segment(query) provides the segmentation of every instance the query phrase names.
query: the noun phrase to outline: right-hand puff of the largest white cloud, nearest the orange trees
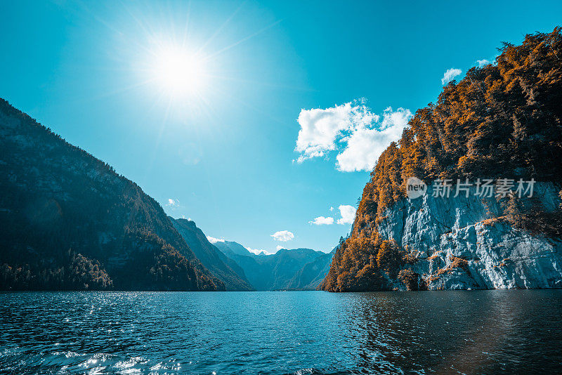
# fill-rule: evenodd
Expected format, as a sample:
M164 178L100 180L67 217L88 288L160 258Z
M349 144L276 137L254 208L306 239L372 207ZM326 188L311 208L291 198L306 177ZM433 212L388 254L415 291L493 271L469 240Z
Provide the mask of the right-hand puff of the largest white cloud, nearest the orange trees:
M366 126L355 129L346 138L347 147L336 156L337 169L343 172L372 171L381 153L393 140L402 136L402 131L412 117L410 110L398 108L393 112L386 108L378 129Z

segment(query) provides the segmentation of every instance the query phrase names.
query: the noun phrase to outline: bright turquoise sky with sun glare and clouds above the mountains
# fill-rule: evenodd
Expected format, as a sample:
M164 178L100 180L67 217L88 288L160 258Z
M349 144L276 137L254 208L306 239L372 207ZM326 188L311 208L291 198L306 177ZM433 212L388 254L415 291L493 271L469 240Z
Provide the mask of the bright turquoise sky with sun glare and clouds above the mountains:
M2 1L0 96L209 236L330 251L377 154L443 79L560 14L556 1ZM194 62L188 92L162 77L169 50Z

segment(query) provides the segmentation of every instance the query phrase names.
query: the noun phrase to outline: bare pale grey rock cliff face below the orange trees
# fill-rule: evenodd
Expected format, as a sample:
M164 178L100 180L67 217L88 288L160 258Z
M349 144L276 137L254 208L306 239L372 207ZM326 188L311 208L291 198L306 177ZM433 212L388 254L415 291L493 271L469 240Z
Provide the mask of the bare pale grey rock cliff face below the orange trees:
M560 187L535 185L547 211L560 204ZM378 231L408 259L389 289L535 289L562 287L562 242L531 235L502 219L501 199L469 197L403 199L386 209ZM408 264L410 263L410 264ZM400 272L398 272L400 273Z

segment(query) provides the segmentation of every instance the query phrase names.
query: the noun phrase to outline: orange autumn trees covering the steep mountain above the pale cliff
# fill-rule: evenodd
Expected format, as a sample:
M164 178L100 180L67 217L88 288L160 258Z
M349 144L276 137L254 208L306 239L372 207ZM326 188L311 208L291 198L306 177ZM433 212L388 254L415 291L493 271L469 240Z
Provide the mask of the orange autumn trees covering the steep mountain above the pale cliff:
M528 34L519 46L503 44L494 63L472 67L464 79L447 84L435 104L417 110L398 143L379 157L351 235L336 252L322 289L356 290L369 282L374 289L387 287L379 276L399 262L395 254L402 250L382 241L377 226L405 197L410 176L426 183L465 177L562 180L561 30ZM513 210L525 228L560 235L561 213Z

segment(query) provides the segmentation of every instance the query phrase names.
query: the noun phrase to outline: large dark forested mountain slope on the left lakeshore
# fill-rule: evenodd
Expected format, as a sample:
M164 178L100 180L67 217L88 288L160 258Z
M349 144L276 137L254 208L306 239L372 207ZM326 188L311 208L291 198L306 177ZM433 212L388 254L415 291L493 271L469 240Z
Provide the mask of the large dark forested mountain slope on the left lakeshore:
M0 100L0 289L224 290L141 187Z

